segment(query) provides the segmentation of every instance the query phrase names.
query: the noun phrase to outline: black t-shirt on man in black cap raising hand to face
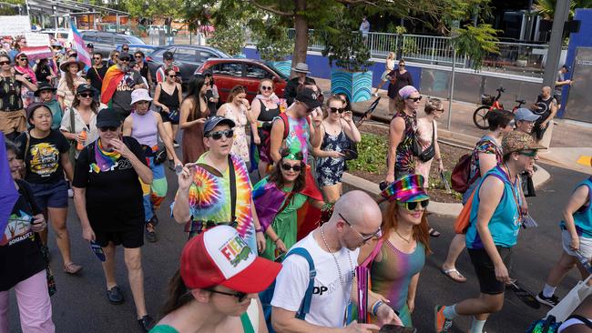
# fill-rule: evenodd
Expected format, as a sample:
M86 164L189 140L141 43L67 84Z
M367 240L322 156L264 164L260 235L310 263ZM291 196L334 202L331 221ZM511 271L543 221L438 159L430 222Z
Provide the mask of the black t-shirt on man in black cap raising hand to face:
M140 161L148 165L142 147L131 136L123 142ZM120 157L107 171L94 171L95 145L80 152L74 171L73 187L87 189L87 215L91 227L103 232L126 231L144 223L142 187L138 173L128 158Z

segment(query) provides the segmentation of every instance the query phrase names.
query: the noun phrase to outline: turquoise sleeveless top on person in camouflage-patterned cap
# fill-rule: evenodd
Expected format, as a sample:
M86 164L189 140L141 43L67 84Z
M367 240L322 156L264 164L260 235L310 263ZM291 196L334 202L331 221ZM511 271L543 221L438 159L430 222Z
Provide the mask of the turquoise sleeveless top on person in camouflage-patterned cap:
M466 247L473 249L485 248L479 233L477 232L477 212L479 211L479 190L487 177L497 177L504 182L504 193L495 207L494 215L489 220L489 231L494 238L496 247L514 247L520 231L520 182L515 181L515 185L510 182L505 170L501 166L495 166L489 170L482 178L479 186L475 188L475 197L473 197L473 206L471 207L471 217L469 228L466 231ZM517 177L516 177L517 178Z

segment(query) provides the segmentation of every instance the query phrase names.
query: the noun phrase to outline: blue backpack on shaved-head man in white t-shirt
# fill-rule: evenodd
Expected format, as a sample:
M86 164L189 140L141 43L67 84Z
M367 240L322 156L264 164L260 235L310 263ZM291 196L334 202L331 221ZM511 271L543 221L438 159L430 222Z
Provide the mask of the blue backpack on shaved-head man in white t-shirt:
M309 313L311 310L311 300L312 300L312 289L314 288L314 278L317 276L317 271L314 268L314 261L312 261L311 254L309 251L304 247L294 247L291 248L290 251L284 257L289 257L291 255L301 256L306 259L309 263L309 286L306 288L306 292L304 293L304 298L302 298L301 307L296 312L296 318L304 320L306 314ZM271 299L273 299L273 292L275 290L275 281L265 289L264 291L260 292L259 298L261 301L261 306L263 308L263 314L265 315L265 323L267 324L267 328L270 333L275 333L275 330L271 326Z

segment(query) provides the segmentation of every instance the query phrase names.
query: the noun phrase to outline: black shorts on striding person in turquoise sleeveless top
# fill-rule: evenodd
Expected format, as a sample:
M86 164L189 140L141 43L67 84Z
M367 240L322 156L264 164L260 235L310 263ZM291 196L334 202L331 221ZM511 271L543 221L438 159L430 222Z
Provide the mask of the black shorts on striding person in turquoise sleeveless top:
M512 247L496 247L499 256L504 261L505 268L510 270L512 264ZM475 274L479 280L479 288L483 294L497 295L505 291L505 283L495 278L495 267L484 249L467 248Z

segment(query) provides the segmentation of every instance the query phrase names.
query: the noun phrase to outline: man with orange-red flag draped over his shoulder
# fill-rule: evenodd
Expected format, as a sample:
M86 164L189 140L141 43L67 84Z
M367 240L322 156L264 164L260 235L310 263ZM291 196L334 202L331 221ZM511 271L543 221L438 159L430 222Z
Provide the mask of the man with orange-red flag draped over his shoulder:
M101 85L101 103L117 110L122 118L131 113L131 92L138 88L148 89L142 76L132 69L131 55L122 52L117 66L111 66Z

